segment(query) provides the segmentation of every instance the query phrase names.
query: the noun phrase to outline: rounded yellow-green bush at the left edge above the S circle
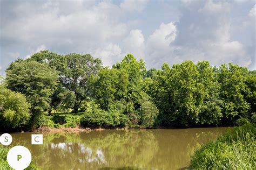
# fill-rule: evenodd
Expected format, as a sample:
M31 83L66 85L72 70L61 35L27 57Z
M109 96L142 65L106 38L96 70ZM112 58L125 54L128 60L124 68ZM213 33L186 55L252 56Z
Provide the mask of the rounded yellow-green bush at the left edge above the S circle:
M26 125L31 117L30 104L21 93L0 85L0 124L2 128Z

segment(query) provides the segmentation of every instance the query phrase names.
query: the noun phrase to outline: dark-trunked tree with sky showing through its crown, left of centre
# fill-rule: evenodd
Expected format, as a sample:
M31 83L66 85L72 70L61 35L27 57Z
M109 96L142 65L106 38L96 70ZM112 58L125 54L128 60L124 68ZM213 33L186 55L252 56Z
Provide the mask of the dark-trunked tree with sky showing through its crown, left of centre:
M89 97L89 77L97 74L102 67L102 61L94 59L90 54L72 53L63 57L65 63L60 71L60 81L66 89L75 94L73 110L77 112L81 102Z

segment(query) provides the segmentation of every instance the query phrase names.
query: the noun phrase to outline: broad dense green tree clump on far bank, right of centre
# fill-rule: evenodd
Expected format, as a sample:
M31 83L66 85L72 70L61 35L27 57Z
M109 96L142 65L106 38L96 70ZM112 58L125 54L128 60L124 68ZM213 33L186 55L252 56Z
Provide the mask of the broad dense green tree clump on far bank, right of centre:
M222 103L219 84L207 61L185 61L171 68L164 63L153 79L147 79L146 91L160 109L164 124L218 124Z

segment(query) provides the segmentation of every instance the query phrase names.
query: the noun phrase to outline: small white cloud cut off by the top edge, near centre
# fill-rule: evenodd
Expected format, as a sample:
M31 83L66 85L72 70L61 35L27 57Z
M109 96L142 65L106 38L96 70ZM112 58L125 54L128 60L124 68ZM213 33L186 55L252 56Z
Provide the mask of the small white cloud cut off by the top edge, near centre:
M124 0L120 4L120 7L127 11L138 11L142 12L145 8L149 0Z

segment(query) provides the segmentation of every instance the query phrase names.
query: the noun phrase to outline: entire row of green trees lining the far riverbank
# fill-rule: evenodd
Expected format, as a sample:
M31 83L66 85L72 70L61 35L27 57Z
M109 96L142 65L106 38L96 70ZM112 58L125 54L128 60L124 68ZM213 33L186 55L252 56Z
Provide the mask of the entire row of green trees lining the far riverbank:
M208 61L146 69L132 54L112 68L90 54L49 51L18 59L0 86L2 128L41 125L60 112L84 126L236 125L255 120L256 70Z

